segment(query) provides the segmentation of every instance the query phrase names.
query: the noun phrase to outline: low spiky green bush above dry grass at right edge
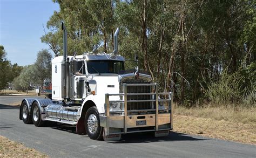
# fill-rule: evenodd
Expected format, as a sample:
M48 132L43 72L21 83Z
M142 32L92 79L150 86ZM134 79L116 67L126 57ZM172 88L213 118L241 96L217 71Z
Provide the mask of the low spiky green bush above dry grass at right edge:
M227 68L221 73L218 81L211 81L206 90L206 96L217 105L256 105L256 84L254 64L234 73L227 73ZM250 72L253 71L253 72ZM249 73L247 73L249 72ZM246 74L247 73L247 74Z

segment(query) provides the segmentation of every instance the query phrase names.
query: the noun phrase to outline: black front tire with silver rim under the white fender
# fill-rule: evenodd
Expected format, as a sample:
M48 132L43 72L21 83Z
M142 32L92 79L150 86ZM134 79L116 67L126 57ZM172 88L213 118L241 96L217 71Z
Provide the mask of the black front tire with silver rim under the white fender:
M90 127L89 127L90 125L88 125L88 123L87 123L89 117L95 119L95 124L96 124L96 121L97 121L97 127L95 126L96 128L93 128L94 130L90 129ZM87 135L89 136L90 139L103 140L103 127L100 127L99 112L98 112L98 110L95 106L90 107L87 110L87 112L85 114L84 124L85 124L86 133L87 133Z

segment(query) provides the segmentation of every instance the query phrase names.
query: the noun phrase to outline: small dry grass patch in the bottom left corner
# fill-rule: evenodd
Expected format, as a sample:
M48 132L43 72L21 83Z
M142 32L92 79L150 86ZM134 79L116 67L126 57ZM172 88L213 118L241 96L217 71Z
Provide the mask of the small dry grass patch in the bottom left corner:
M26 148L22 143L10 141L0 135L0 157L48 157L32 148Z

